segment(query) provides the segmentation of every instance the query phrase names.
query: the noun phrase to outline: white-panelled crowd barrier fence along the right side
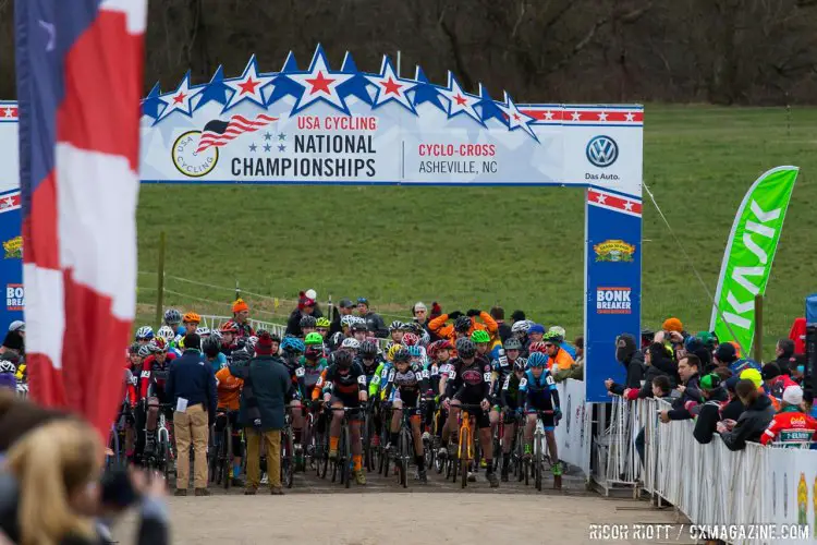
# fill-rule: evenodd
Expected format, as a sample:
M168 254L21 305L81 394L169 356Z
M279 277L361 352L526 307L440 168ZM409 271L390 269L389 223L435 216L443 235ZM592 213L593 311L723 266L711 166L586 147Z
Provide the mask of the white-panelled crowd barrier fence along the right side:
M731 451L718 435L708 445L695 440L694 421L660 423L658 411L670 408L663 400L615 396L611 405L594 472L607 492L632 486L694 524L739 528L731 543L769 543L771 536L817 543L817 450L749 443ZM634 447L642 428L643 464Z

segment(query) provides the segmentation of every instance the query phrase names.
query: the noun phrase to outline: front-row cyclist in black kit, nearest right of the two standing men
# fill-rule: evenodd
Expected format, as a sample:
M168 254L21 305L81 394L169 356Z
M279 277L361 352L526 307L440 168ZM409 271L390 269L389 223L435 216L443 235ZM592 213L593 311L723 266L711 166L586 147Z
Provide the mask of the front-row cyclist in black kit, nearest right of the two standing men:
M315 385L312 398L317 400L322 393L324 401L332 410L329 426L329 459L338 459L338 441L340 440L343 411L334 409L355 409L349 417L350 440L352 441L352 461L354 463L355 482L366 484L363 473L363 446L361 445L361 403L366 402L366 375L363 368L355 364L352 354L339 350L332 354L332 362L321 373Z

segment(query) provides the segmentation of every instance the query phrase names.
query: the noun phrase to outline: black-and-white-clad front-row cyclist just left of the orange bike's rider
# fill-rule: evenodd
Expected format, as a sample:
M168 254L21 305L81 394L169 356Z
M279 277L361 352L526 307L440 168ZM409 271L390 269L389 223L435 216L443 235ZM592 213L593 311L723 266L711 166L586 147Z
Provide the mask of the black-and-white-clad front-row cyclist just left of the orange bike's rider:
M413 347L417 348L417 347ZM428 391L428 372L422 365L413 363L412 355L406 349L394 353L394 367L389 372L389 384L383 392L392 407L391 427L389 428L389 444L387 452L392 452L398 445L398 434L403 420L403 410L411 413L412 437L414 438L414 461L417 464L417 479L427 483L426 462L423 456L423 441L419 425L425 403L425 392Z

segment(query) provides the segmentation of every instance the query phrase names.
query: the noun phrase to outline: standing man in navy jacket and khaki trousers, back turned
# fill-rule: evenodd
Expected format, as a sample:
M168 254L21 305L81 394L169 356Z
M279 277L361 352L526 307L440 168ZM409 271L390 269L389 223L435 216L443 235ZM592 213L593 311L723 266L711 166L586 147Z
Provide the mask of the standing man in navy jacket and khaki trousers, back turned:
M190 447L193 444L193 485L196 496L209 496L207 489L207 439L216 421L216 375L202 362L202 339L184 336L184 353L170 366L164 386L167 399L174 408L173 433L176 446L175 495L186 496L190 483Z

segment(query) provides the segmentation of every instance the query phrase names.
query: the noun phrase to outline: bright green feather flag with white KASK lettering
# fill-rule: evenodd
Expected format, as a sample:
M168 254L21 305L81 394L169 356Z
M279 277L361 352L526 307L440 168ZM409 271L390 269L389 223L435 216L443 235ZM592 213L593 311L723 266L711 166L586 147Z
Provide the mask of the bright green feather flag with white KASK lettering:
M777 167L752 184L723 253L710 330L721 341L737 341L744 355L755 334L755 295L766 292L798 170Z

